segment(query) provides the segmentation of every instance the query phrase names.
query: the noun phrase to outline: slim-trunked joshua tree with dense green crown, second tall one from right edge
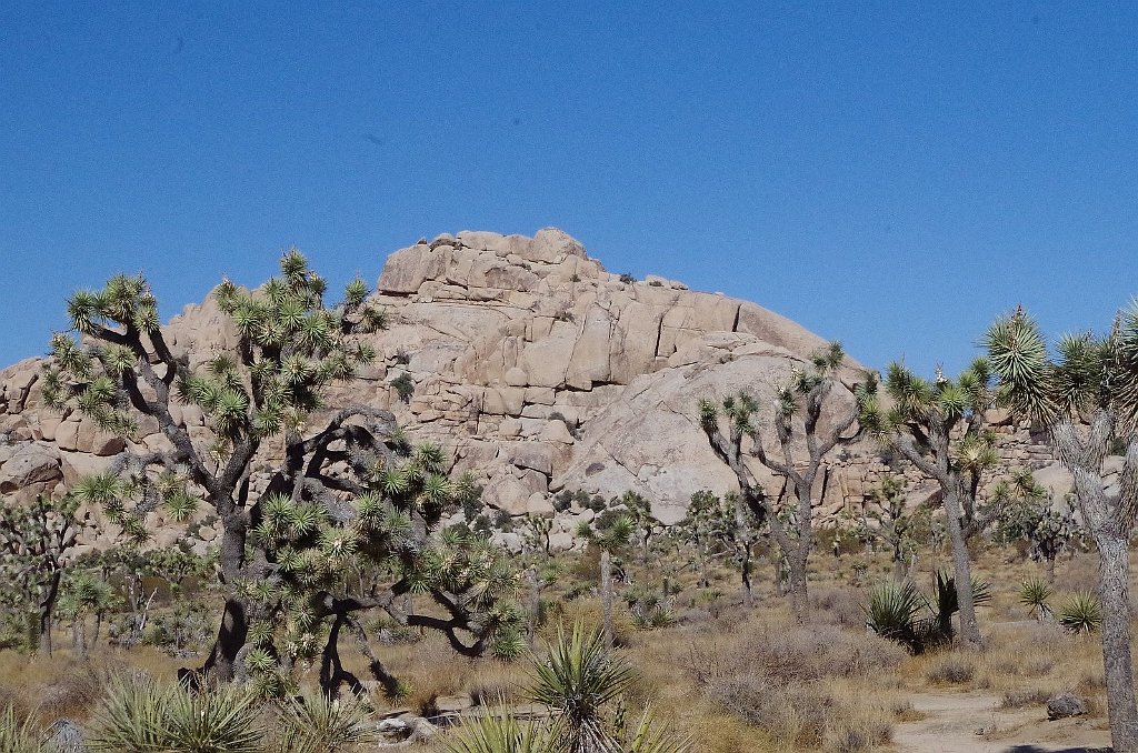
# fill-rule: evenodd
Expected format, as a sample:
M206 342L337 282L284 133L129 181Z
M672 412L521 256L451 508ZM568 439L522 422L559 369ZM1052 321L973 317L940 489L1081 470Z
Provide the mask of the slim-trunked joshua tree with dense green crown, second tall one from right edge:
M997 507L982 507L984 473L998 457L984 414L995 404L993 376L978 358L957 379L940 370L932 381L901 364L890 364L885 394L890 406L876 398L869 382L863 399L861 425L898 450L925 478L940 487L941 505L953 548L953 570L960 610L960 640L980 647L980 626L972 599L972 564L967 539L995 520Z

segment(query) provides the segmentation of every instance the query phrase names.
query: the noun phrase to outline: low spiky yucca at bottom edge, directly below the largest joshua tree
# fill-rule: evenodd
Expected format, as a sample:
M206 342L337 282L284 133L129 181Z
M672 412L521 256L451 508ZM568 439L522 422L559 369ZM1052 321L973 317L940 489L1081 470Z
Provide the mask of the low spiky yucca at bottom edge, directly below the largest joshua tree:
M347 753L377 742L366 706L355 698L305 692L279 711L281 751Z

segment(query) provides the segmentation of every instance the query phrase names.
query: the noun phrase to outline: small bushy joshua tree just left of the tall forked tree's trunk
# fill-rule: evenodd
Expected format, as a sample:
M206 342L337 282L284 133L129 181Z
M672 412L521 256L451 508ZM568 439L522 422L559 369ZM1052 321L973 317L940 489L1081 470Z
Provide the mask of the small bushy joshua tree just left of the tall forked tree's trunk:
M695 548L704 587L710 586L708 560L726 551L739 564L743 604L754 604L751 574L754 568L754 545L762 536L760 529L761 523L754 512L742 503L739 494L731 491L721 499L706 490L692 495L683 531Z

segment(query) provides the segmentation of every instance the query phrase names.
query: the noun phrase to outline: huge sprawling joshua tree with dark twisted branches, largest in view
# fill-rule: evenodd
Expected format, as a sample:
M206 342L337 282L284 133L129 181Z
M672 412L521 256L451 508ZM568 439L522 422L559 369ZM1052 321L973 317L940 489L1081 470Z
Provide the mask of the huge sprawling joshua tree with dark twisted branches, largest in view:
M468 652L498 637L509 644L513 619L498 599L512 580L500 558L485 541L436 535L443 508L469 480L452 482L442 448L413 448L387 411L323 411L327 389L374 357L357 334L382 326L382 311L368 303L361 280L343 303L325 305L327 283L295 249L280 270L253 292L229 281L214 290L233 347L196 369L167 345L141 276L72 296L79 337L52 338L47 403L127 438L157 423L165 438L149 452L123 453L82 481L76 497L102 505L135 540L148 537L154 510L184 519L212 508L222 527L225 605L203 669L220 680L287 677L292 661L319 654L325 688L351 684L336 642L346 628L366 648L354 617L364 609L444 630ZM204 436L179 420L185 406L201 409ZM254 461L262 463L270 438L282 444L283 462L254 490ZM398 609L396 597L412 593L428 594L444 617ZM378 661L371 669L390 679Z

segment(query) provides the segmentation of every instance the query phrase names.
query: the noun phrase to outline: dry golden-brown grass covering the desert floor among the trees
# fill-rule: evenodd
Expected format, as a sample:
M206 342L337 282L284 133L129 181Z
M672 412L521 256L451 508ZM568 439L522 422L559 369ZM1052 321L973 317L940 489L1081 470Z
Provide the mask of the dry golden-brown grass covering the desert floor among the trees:
M542 629L544 640L555 636L559 624L600 621L595 595L564 598L579 585L569 573L593 572L588 557L575 564L572 556L564 557L566 577L543 593L556 605ZM934 568L947 562L945 552L923 553L921 582L926 585ZM635 582L660 587L660 563L626 565ZM1096 569L1094 555L1064 556L1056 569L1057 597L1094 585ZM694 750L700 753L876 750L889 745L896 725L922 718L909 698L930 690L993 695L1006 710L1039 706L1052 694L1071 690L1088 700L1092 723L1102 723L1098 637L1070 636L1036 623L1019 603L1020 584L1041 577L1041 566L1014 552L981 551L975 570L993 590L992 602L980 610L986 648L924 656L909 656L865 634L861 604L867 587L891 573L884 555L858 553L835 561L819 552L811 562L813 623L806 627L791 621L787 599L775 595L773 568L765 560L757 563L758 604L750 611L741 606L737 573L712 568L712 588L721 594L715 601L718 617L707 607L709 591L698 587L698 574L675 570L669 581L681 589L677 613L684 615L676 624L638 631L618 599L619 651L640 671L627 702L632 709L651 702L677 733L698 740ZM378 700L381 709L428 712L438 698L455 695L469 695L481 705L517 703L523 701L529 681L523 661L470 660L430 632L418 643L373 647L406 688L402 698ZM364 677L365 662L347 642L341 654L345 665ZM129 668L170 678L182 663L148 647L100 648L94 660L99 669L74 662L67 651L51 660L0 652L0 705L11 702L22 712L41 711L48 720L82 720L101 693L99 671ZM315 678L315 667L303 668L306 685ZM438 743L419 750L445 747Z

